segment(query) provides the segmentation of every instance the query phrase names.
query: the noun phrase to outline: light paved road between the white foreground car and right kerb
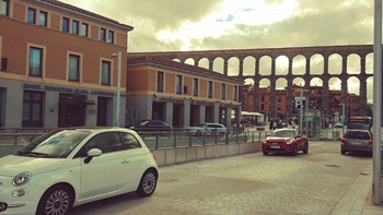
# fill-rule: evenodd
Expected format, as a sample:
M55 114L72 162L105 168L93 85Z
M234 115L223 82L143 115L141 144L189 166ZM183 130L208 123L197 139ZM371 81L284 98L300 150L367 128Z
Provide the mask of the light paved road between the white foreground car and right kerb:
M161 167L152 196L124 194L72 214L328 215L358 177L371 177L363 172L371 162L340 155L338 142L311 142L297 157L252 153Z

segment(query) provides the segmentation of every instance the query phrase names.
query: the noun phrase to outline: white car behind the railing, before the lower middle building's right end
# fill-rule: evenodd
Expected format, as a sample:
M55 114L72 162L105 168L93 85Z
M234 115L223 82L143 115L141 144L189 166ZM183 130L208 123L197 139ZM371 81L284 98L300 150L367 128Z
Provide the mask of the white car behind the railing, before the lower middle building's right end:
M228 132L228 129L220 123L205 122L198 124L197 127L185 128L185 131L192 132L193 135L224 135L224 133Z

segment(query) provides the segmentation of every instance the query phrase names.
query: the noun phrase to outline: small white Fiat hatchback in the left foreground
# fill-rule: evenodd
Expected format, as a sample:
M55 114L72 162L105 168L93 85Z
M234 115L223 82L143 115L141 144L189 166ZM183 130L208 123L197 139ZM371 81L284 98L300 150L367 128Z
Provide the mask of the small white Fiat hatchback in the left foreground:
M66 215L123 193L149 196L158 177L154 156L132 130L60 129L0 158L0 214Z

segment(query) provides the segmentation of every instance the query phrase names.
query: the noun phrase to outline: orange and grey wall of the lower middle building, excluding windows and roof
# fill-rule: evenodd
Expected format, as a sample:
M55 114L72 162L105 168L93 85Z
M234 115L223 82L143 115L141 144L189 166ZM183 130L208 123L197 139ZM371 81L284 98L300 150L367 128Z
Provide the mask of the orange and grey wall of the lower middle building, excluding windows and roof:
M158 72L164 73L164 91L158 91ZM182 75L182 94L176 94L176 75ZM153 112L162 112L160 120L174 128L196 126L201 122L220 122L231 127L231 110L241 110L239 92L234 100L233 88L242 82L230 77L214 79L204 73L179 70L176 64L163 67L153 63L129 63L127 75L127 123L153 119ZM139 81L135 81L136 79ZM198 79L198 96L193 96L193 80ZM208 98L208 83L213 83L213 96ZM144 83L146 82L146 83ZM221 99L221 86L227 85L225 99ZM144 88L147 86L147 88ZM186 89L186 91L185 91ZM162 110L156 110L161 109ZM131 111L130 111L131 110ZM212 111L212 112L211 112ZM223 116L228 116L224 117ZM155 115L158 117L158 115Z

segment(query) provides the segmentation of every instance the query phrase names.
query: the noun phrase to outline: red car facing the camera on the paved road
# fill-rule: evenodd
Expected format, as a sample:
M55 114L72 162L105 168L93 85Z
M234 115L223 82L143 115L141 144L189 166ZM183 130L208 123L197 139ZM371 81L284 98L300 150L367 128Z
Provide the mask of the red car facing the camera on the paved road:
M277 129L266 136L262 143L264 155L269 153L287 153L297 156L298 151L309 153L309 140L302 132L295 129Z

